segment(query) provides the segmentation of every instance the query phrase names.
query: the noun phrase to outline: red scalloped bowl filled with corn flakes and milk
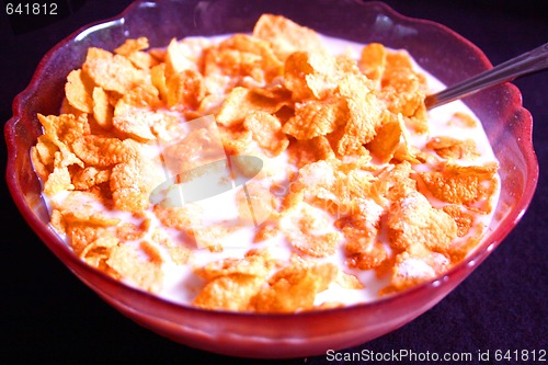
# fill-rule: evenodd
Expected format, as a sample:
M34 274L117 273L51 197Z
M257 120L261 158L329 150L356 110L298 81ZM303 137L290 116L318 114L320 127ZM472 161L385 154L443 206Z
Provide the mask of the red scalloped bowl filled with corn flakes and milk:
M137 1L44 57L7 179L45 244L141 326L324 354L430 309L523 216L538 164L518 90L424 106L490 67L379 2Z

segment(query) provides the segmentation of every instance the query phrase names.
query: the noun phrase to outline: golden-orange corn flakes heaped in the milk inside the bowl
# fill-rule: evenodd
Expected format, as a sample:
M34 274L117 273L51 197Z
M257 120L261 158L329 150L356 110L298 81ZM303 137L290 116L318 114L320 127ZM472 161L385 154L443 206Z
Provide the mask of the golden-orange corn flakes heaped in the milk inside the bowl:
M317 294L362 290L366 271L386 281L379 295L403 290L463 260L495 203L495 161L478 162L472 139L429 137L426 80L406 52L368 44L358 59L331 55L283 16L264 14L252 34L218 42L92 47L65 92L59 115L38 115L44 134L31 150L52 226L88 264L145 290L162 290L165 265L191 267L198 307L342 306ZM165 166L174 174L208 156L208 127L183 128L206 115L228 156L265 161L229 221L150 199ZM476 122L455 114L448 124L472 132ZM195 264L197 251L222 252L239 229L253 229L244 254ZM271 250L281 237L287 260Z

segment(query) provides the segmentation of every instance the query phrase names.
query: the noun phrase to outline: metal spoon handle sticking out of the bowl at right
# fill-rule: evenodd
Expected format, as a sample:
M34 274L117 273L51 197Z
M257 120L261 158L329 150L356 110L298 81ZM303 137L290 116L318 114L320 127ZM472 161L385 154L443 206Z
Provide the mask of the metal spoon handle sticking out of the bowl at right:
M548 43L509 59L490 70L478 73L453 87L427 95L424 104L427 110L465 98L481 89L548 68Z

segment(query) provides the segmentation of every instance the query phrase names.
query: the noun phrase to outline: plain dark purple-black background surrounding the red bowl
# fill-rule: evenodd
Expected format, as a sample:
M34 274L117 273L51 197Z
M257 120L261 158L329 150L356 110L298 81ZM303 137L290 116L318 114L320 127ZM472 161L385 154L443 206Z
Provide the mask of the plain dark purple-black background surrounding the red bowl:
M0 121L44 54L80 26L114 16L130 1L65 1L54 20L24 25L0 14ZM493 65L548 42L541 1L386 1L412 18L442 23L479 46ZM42 23L39 23L42 22ZM548 72L514 81L533 114L540 164L528 212L455 292L413 322L347 351L473 353L547 349ZM5 142L2 139L2 173ZM1 180L0 363L18 364L326 364L326 356L260 362L235 360L165 340L126 319L79 282L30 230ZM530 354L530 353L529 353ZM513 353L514 355L514 353ZM547 358L548 355L545 357ZM342 362L341 362L342 363ZM511 364L516 362L503 361Z

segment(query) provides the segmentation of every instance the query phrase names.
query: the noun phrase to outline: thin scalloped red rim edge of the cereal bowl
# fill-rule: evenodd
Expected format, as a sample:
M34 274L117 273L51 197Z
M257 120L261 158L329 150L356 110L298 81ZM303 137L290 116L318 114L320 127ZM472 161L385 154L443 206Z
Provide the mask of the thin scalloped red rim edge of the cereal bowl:
M512 209L499 224L498 229L495 229L492 233L490 233L490 241L491 243L486 246L486 242L482 242L479 244L477 248L475 248L473 252L471 252L465 260L459 262L458 264L454 265L452 269L449 269L447 272L445 272L441 276L436 276L433 280L425 281L419 285L415 285L411 288L408 288L402 292L398 292L393 295L388 295L385 297L380 297L374 301L370 303L362 303L362 304L355 304L351 306L344 306L344 307L336 307L336 308L327 308L327 309L318 309L318 310L311 310L311 311L302 311L302 312L292 312L292 313L261 313L261 312L243 312L243 311L231 311L231 310L212 310L212 309L203 309L198 307L194 307L192 305L185 305L185 304L179 304L179 303L173 303L168 299L163 299L155 294L145 292L142 289L139 289L137 287L124 284L123 282L113 278L110 275L106 275L105 273L88 265L85 262L83 262L81 259L79 259L76 254L73 254L71 248L64 243L64 241L55 233L55 231L48 226L44 225L34 214L33 209L26 204L24 197L19 191L19 182L18 179L14 174L15 171L15 157L18 152L21 152L16 148L16 141L15 141L15 129L16 125L20 122L20 119L24 116L24 102L33 95L37 89L41 85L41 82L43 81L42 79L42 70L48 65L53 56L64 46L70 44L71 42L75 41L75 38L79 35L81 35L83 32L90 32L91 28L98 26L98 25L105 25L107 23L114 23L114 22L119 22L122 20L126 20L128 15L133 14L134 12L140 11L141 9L145 9L147 7L157 7L161 5L163 1L162 0L157 0L156 2L150 2L150 1L145 1L145 0L139 0L135 1L132 4L129 4L124 11L118 13L117 15L114 15L109 19L103 19L99 20L95 22L88 23L81 27L79 27L77 31L72 32L65 38L62 38L60 42L58 42L53 48L50 48L44 57L41 59L38 62L34 75L28 82L27 87L21 91L13 100L12 103L12 113L13 116L5 123L4 125L4 138L7 141L7 147L8 147L8 162L7 162L7 170L5 170L5 180L8 183L8 187L10 191L10 194L19 208L20 213L24 217L25 221L31 226L31 228L34 230L34 232L38 236L38 238L42 240L46 247L48 247L49 250L54 252L54 254L61 261L65 262L68 261L71 264L76 265L79 270L85 272L89 275L98 277L100 281L106 281L111 285L119 286L121 290L124 293L130 294L130 296L142 296L144 299L147 299L147 301L153 303L155 306L163 307L169 310L186 310L191 311L194 313L201 313L201 315L207 315L207 316L229 316L232 318L239 318L239 317L253 317L256 319L287 319L287 318L294 318L295 316L299 317L316 317L316 316L324 316L327 312L332 312L332 313L339 313L342 311L349 311L349 310L359 310L361 308L368 307L368 308L381 308L386 304L400 300L402 297L408 297L408 296L413 296L416 295L423 290L427 290L432 286L439 286L443 285L445 282L449 282L453 276L457 276L458 274L466 269L466 266L472 266L471 270L475 270L481 263L488 254L494 250L501 242L502 240L510 233L510 231L515 227L515 225L522 219L524 216L528 205L530 204L533 196L535 194L535 189L538 182L538 161L536 158L536 153L534 150L534 145L533 145L533 116L530 113L523 107L522 105L522 95L517 87L515 87L512 83L505 83L498 85L498 88L504 88L509 92L512 99L512 105L516 105L517 107L515 109L515 114L520 114L521 118L525 122L525 128L521 133L522 137L522 144L520 144L520 150L524 155L524 158L526 161L529 163L526 163L526 172L528 173L528 180L525 182L524 186L524 192L520 201L516 203L516 208ZM473 55L478 58L478 60L481 61L482 66L484 66L486 69L491 68L492 65L488 57L483 54L483 52L477 47L475 44L472 44L469 39L465 38L460 34L456 33L455 31L450 30L449 27L431 21L431 20L425 20L425 19L418 19L418 18L411 18L403 14L400 14L396 10L393 10L390 5L381 2L381 1L368 1L368 2L359 2L357 0L351 0L350 2L357 3L359 5L364 7L378 7L381 11L388 13L391 15L393 19L396 19L398 22L404 21L404 22L412 22L413 24L419 24L419 25L426 25L431 27L436 27L439 31L443 31L445 33L448 33L448 36L452 36L459 41L460 43L464 43L468 48L470 48L473 52ZM145 11L145 10L144 10ZM37 178L36 178L37 179ZM509 224L510 223L510 224ZM66 265L69 270L72 271L72 269L69 265ZM463 281L461 278L460 281ZM442 298L443 299L443 298ZM124 299L118 299L119 301L124 303ZM126 303L129 307L132 306L130 303Z

